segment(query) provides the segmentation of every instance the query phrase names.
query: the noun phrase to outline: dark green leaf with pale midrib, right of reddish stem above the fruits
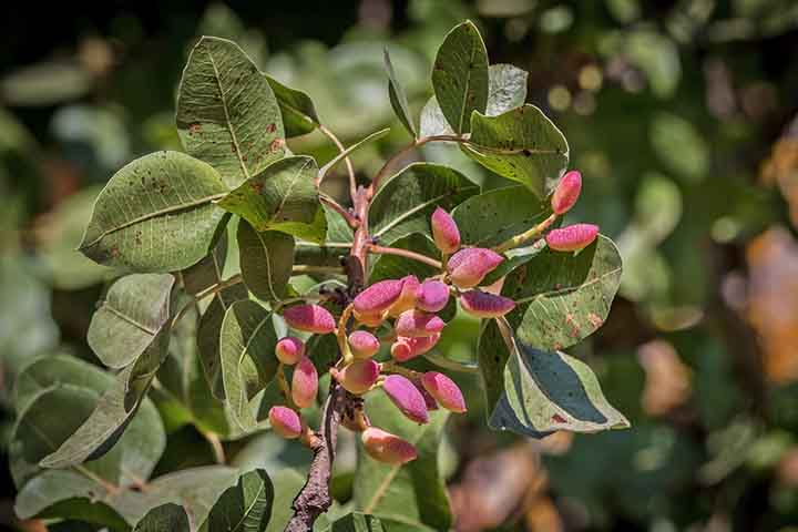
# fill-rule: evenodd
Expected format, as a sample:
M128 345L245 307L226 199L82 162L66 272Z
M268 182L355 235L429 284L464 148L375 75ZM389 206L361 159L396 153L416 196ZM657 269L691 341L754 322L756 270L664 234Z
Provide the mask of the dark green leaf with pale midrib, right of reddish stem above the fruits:
M453 168L413 163L377 191L369 209L371 236L385 245L413 233L429 236L436 207L451 211L479 191L479 185Z

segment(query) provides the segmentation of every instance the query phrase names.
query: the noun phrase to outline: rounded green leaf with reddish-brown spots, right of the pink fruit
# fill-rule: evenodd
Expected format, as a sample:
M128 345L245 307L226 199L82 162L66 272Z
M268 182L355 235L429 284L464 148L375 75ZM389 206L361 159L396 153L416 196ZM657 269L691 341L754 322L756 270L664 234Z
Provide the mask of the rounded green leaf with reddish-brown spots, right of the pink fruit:
M604 324L621 270L621 255L603 235L576 255L541 252L502 289L516 304L508 319L519 340L546 351L582 341Z

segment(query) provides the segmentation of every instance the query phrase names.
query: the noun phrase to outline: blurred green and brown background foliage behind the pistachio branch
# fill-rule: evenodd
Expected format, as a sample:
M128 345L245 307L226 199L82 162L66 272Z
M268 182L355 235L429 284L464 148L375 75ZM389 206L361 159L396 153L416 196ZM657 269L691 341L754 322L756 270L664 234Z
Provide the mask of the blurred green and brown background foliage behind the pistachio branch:
M73 248L116 168L178 147L175 86L196 35L236 40L306 91L345 143L393 126L354 157L368 180L407 143L382 48L418 113L438 44L471 18L491 63L528 70L528 101L569 139L585 180L569 216L598 223L622 249L621 297L573 354L633 428L542 441L492 433L479 383L462 374L470 412L450 422L440 453L458 530L798 530L798 3L112 1L53 4L52 31L33 31L34 9L4 6L0 17L2 441L20 367L59 352L95 360L84 338L109 272ZM318 133L290 142L321 163L335 154ZM456 149L423 156L501 184ZM337 177L329 192L340 196ZM451 327L460 334L438 356L473 361L475 323ZM211 463L196 429L161 406L171 433L158 470ZM344 441L341 508L355 463ZM290 494L309 459L293 447L267 433L228 453L265 466ZM0 526L47 530L14 521L2 474Z

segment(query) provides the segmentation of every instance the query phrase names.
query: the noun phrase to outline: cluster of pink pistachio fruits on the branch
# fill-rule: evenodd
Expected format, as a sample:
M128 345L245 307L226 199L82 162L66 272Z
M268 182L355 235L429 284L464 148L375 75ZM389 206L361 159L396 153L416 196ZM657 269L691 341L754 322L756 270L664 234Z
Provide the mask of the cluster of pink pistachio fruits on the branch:
M573 207L581 187L579 172L563 176L551 197L553 215L533 237L540 237L556 216ZM293 329L338 335L344 352L330 375L341 387L356 396L381 390L401 413L417 423L429 422L429 411L439 407L458 413L467 411L462 392L449 377L438 371L418 372L400 366L436 346L446 327L438 313L446 308L450 297L456 297L466 313L478 318L498 318L515 307L512 299L479 288L504 260L503 255L489 248L462 247L454 219L442 208L434 211L430 225L436 246L444 259L438 275L423 280L408 275L375 283L355 297L338 325L319 305L297 305L283 313ZM544 238L553 250L575 252L591 244L597 233L595 225L576 224L549 231ZM346 330L338 327L350 326L347 323L349 311L354 324L347 336ZM378 328L386 331L380 337L377 336ZM372 357L383 345L392 360L380 364ZM298 410L311 406L318 392L318 374L305 351L303 340L290 336L280 339L276 346L279 361L294 366L289 388L293 406L278 406L269 411L272 427L285 438L307 436L307 426ZM364 420L361 427L354 427L361 431L364 448L369 456L393 464L416 458L416 448L410 442L371 427L367 417Z

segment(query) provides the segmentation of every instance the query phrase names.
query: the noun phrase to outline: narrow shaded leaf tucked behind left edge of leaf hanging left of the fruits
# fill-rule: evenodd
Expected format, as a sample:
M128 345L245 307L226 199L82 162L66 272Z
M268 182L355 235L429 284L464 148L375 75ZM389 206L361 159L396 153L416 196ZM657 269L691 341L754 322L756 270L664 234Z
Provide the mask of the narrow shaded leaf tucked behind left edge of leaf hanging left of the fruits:
M218 294L200 318L197 326L197 348L200 349L200 361L211 391L217 399L224 399L224 387L222 385L222 359L219 355L219 335L222 334L222 321L229 306L237 300L248 297L246 287L234 285Z

